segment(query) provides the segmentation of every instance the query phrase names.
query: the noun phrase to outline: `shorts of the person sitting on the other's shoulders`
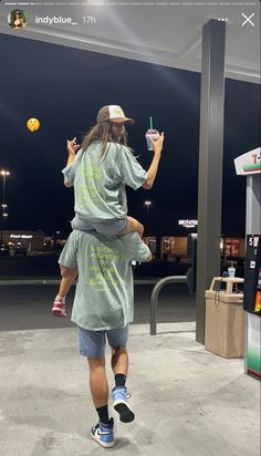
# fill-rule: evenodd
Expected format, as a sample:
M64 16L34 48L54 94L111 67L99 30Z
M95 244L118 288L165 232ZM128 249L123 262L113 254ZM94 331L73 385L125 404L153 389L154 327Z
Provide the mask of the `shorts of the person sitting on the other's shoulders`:
M81 231L97 231L108 238L115 238L127 226L127 217L112 218L102 221L88 221L81 218L79 215L72 220L72 229L80 229Z

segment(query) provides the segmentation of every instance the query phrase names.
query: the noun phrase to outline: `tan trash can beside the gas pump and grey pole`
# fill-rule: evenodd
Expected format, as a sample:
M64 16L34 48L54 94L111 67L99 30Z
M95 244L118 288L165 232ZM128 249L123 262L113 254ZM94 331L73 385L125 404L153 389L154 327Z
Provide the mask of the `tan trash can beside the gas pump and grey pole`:
M223 357L243 356L243 279L215 277L206 297L206 350ZM240 290L241 288L241 290Z

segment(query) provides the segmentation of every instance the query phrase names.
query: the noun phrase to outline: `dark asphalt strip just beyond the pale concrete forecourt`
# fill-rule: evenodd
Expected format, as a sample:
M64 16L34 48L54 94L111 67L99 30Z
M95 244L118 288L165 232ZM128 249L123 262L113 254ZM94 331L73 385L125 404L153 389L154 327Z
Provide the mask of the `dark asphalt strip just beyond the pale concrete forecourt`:
M134 323L149 323L150 294L155 284L135 284ZM51 313L58 286L0 286L0 331L70 328L74 286L67 296L67 318ZM167 284L158 297L158 322L189 322L196 319L195 297L186 283Z

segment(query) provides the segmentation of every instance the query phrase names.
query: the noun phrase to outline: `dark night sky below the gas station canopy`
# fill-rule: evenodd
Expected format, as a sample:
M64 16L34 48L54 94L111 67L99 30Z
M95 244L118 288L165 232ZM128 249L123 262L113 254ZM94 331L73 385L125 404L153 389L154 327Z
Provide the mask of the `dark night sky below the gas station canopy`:
M145 234L187 235L178 219L197 218L199 74L4 34L0 52L0 168L11 173L6 228L70 231L73 190L61 174L66 139L81 141L100 107L119 104L135 118L129 145L145 168L149 115L166 137L154 188L128 190L129 215L145 224ZM233 158L260 146L259 108L259 85L226 81L225 236L244 235L246 178L236 176ZM27 129L30 117L40 120L39 132Z

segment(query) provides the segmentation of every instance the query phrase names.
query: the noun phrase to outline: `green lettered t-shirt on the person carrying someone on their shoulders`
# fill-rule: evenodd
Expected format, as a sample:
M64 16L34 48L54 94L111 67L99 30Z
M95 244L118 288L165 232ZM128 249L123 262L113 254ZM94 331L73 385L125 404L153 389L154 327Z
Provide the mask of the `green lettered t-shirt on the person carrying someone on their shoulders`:
M96 231L73 230L59 259L62 266L79 268L72 321L91 331L124 328L132 322L130 262L146 261L149 253L137 232L108 240Z

